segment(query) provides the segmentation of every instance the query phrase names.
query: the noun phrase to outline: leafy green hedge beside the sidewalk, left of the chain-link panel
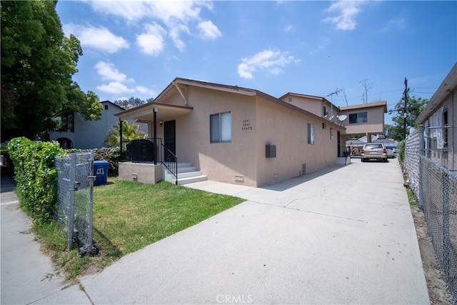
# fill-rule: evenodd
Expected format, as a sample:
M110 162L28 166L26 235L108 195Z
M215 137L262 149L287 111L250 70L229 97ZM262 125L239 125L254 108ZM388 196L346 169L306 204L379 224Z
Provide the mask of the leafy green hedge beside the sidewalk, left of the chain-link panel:
M34 142L24 137L11 139L9 157L19 190L21 207L34 221L46 223L56 216L56 156L66 153L57 142Z

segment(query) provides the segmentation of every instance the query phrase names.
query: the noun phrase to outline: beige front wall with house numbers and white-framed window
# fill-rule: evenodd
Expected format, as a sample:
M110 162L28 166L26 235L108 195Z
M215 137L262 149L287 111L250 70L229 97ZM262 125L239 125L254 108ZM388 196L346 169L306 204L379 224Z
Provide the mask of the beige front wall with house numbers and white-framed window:
M256 186L255 129L242 131L243 120L255 126L253 96L199 87L187 90L191 114L176 119L176 156L190 161L209 180ZM231 111L230 143L210 143L209 116ZM245 123L246 124L246 123ZM238 176L243 181L236 181Z

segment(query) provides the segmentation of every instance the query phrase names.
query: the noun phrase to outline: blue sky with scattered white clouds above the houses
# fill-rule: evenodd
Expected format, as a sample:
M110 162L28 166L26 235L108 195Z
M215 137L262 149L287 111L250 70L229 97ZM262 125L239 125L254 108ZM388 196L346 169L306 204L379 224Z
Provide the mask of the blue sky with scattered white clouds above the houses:
M81 41L74 76L101 101L155 98L176 78L386 100L429 99L457 60L457 1L59 1ZM363 82L368 85L364 97ZM386 123L391 119L386 115Z

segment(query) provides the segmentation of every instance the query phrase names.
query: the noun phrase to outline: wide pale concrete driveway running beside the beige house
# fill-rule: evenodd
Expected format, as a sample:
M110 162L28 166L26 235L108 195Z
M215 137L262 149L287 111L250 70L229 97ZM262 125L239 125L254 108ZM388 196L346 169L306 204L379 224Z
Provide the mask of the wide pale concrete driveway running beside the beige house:
M94 304L429 304L397 159L353 159L265 188L81 284Z

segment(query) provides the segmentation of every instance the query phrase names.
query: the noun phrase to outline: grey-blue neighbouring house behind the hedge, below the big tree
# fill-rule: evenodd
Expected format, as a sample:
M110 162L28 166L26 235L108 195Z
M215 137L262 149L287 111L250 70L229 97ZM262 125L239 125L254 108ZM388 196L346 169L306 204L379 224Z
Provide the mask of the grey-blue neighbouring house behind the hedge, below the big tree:
M111 101L101 101L101 119L87 121L74 111L63 110L54 115L56 129L46 131L46 141L58 141L64 149L95 149L105 147L106 134L119 119L115 116L124 108ZM141 131L147 130L146 124L140 124Z

